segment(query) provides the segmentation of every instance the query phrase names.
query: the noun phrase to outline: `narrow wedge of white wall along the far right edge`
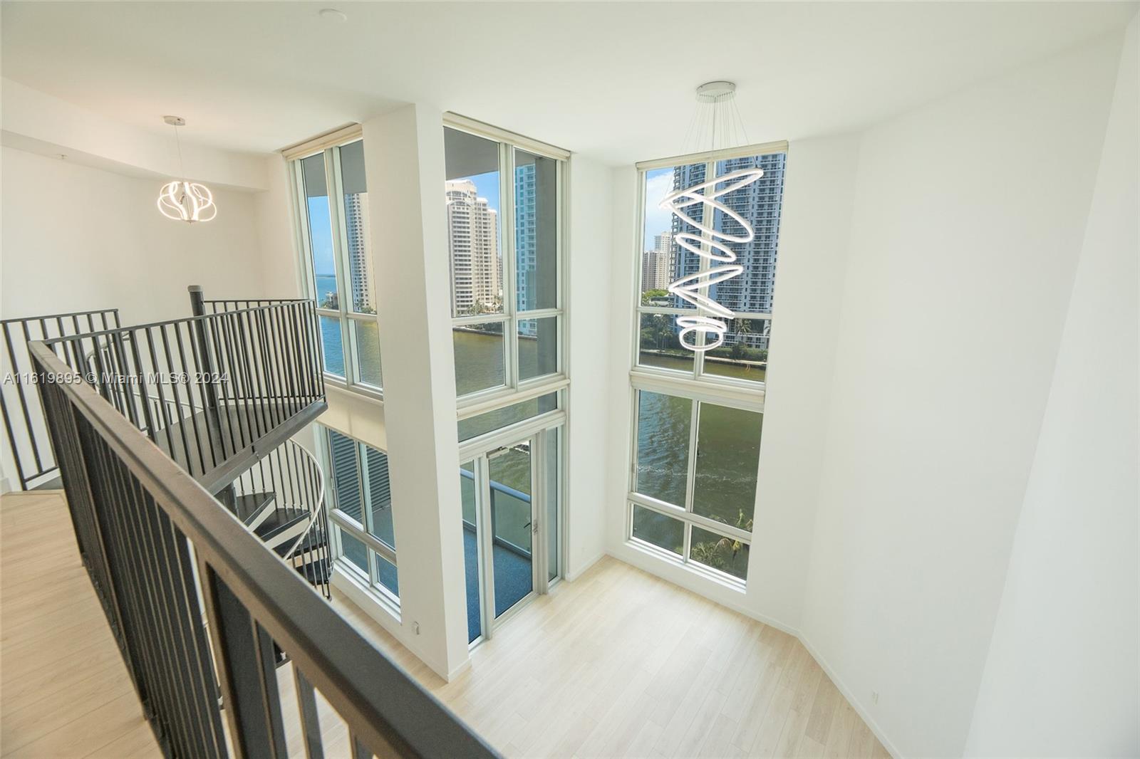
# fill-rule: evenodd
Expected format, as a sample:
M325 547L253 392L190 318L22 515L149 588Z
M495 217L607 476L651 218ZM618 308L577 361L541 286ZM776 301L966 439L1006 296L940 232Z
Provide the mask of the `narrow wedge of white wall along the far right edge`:
M1138 21L967 756L1140 756Z

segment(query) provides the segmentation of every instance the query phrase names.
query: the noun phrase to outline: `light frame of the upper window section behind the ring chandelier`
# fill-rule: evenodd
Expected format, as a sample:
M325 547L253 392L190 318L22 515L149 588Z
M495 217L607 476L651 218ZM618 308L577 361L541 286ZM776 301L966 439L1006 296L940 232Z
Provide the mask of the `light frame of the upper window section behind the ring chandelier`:
M747 392L759 392L763 393L765 390L765 381L760 379L738 379L735 377L726 377L723 375L708 374L705 372L705 353L702 351L693 352L693 369L692 372L682 372L679 369L667 369L663 367L654 367L638 364L641 356L641 319L642 315L645 313L661 313L669 317L676 316L692 316L698 313L698 309L677 309L670 307L657 307L657 305L643 305L641 302L642 296L642 266L641 256L645 252L645 178L646 173L657 169L673 169L679 165L687 164L705 164L705 176L714 177L716 173L716 164L720 161L728 158L740 158L750 157L757 155L769 155L783 153L788 154L788 142L784 140L776 142L762 142L759 145L748 145L740 148L733 148L731 150L718 150L716 153L695 153L690 155L673 156L669 158L658 158L654 161L642 161L636 164L637 169L637 222L638 228L635 235L635 267L634 267L634 318L633 318L633 344L632 344L632 358L630 358L630 372L633 374L641 374L645 376L656 377L671 377L671 378L683 378L693 382L699 382L709 385L719 385L725 387L726 391L741 390ZM701 235L702 239L710 239L708 234ZM774 266L779 266L777 263ZM712 262L708 259L701 259L701 264L699 271L709 271L712 268ZM736 312L736 319L763 319L767 323L767 328L772 329L772 313L762 313L752 311L740 311ZM699 337L700 344L703 344L705 335L701 334Z

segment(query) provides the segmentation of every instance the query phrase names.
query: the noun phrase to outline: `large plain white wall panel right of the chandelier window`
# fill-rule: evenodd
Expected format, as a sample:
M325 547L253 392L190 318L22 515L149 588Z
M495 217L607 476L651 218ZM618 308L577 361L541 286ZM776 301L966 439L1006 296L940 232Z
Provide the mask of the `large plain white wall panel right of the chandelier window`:
M902 756L966 745L1118 50L982 83L862 140L800 630Z

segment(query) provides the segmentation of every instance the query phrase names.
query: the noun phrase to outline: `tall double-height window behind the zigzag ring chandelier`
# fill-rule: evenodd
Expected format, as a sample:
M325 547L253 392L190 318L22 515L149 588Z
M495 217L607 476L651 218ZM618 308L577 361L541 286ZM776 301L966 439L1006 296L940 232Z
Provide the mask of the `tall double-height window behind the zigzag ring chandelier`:
M633 293L626 536L665 561L740 588L748 579L752 534L763 529L757 480L785 160L787 144L775 144L714 160L638 164L642 234ZM687 219L661 207L674 190L743 169L762 169L764 176L717 197L723 207L690 203L683 209ZM726 187L712 185L701 194L712 199ZM752 227L751 239L741 242L747 235L734 215ZM730 251L734 261L725 261ZM722 279L715 270L727 263L742 271ZM710 316L668 289L686 276L711 281L700 292L733 313L722 320L723 343L715 348L705 350L715 332L683 335L685 325L677 324L678 317Z

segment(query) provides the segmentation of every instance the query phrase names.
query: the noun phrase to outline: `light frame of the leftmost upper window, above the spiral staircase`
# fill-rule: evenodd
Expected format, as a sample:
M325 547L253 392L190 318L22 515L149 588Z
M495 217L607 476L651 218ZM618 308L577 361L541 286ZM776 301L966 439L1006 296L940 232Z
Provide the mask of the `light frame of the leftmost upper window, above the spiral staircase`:
M320 328L320 317L336 319L341 333L341 353L344 360L344 376L324 370L327 384L360 393L374 400L383 401L383 375L381 385L374 385L360 378L359 350L357 349L356 329L352 321L373 323L377 325L377 352L381 353L381 366L383 366L383 352L380 350L378 317L376 313L361 313L349 309L355 305L351 293L351 275L349 272L349 250L348 250L348 222L344 215L343 198L343 176L341 170L340 148L364 139L364 130L360 124L352 124L334 132L298 145L282 152L288 164L288 177L291 193L293 197L293 226L296 232L298 251L300 253L299 276L302 289L307 296L316 303L317 324ZM321 308L317 302L317 272L312 260L312 244L309 234L308 198L304 190L304 177L301 162L315 155L324 156L325 187L328 191L329 223L332 225L333 244L333 268L336 277L336 309ZM368 240L372 245L372 240ZM368 255L373 254L370 247ZM375 278L374 278L375 279ZM375 281L369 281L368 287L373 293L373 301L376 300ZM378 309L377 309L378 310ZM321 351L324 341L321 338ZM383 369L381 369L383 372Z

